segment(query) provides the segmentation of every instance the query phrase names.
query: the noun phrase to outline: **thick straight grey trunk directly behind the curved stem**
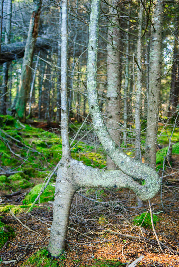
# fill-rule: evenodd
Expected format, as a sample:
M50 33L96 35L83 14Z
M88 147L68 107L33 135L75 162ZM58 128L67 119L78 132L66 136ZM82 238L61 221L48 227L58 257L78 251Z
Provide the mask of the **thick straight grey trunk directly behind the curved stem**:
M113 6L117 5L116 0L111 0ZM117 12L109 7L108 22L108 42L112 43L120 50L120 30L119 28L110 28L110 26L119 25ZM107 128L112 139L119 144L120 132L120 72L119 72L120 52L107 44ZM115 163L107 156L108 170L115 170Z

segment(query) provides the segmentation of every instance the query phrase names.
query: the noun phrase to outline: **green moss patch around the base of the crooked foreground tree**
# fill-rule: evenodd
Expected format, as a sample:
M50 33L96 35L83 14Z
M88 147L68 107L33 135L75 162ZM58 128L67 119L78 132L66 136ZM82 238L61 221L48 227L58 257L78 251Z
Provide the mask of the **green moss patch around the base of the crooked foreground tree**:
M25 261L21 266L34 266L34 267L56 267L56 266L64 266L63 261L66 259L63 255L59 259L53 259L49 257L50 254L48 250L40 249L35 254L33 254L27 261ZM43 262L43 265L42 265Z

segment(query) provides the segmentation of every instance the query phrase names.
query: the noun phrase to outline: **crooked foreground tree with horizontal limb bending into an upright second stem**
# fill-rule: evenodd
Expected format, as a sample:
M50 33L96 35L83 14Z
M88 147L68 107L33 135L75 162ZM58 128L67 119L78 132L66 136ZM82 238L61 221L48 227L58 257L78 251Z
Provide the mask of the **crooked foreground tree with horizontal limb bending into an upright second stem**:
M61 135L63 155L56 179L54 215L48 246L51 256L54 257L58 257L65 249L71 202L80 187L130 188L143 200L152 198L160 187L160 178L155 170L121 151L104 124L97 90L99 17L100 0L92 0L87 64L89 112L102 146L120 170L95 169L71 157L67 107L68 1L62 0Z

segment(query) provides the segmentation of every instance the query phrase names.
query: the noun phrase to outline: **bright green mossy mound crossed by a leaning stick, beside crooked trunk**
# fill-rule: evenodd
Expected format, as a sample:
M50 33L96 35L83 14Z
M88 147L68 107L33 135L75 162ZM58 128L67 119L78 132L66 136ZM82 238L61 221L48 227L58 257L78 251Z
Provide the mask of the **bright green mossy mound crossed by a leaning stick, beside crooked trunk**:
M36 197L39 195L42 185L43 184L41 183L34 186L32 190L29 192L29 194L26 195L25 199L23 200L23 204L33 203ZM55 187L52 186L51 184L48 184L43 194L41 194L40 196L40 203L53 201L54 193L55 193Z

